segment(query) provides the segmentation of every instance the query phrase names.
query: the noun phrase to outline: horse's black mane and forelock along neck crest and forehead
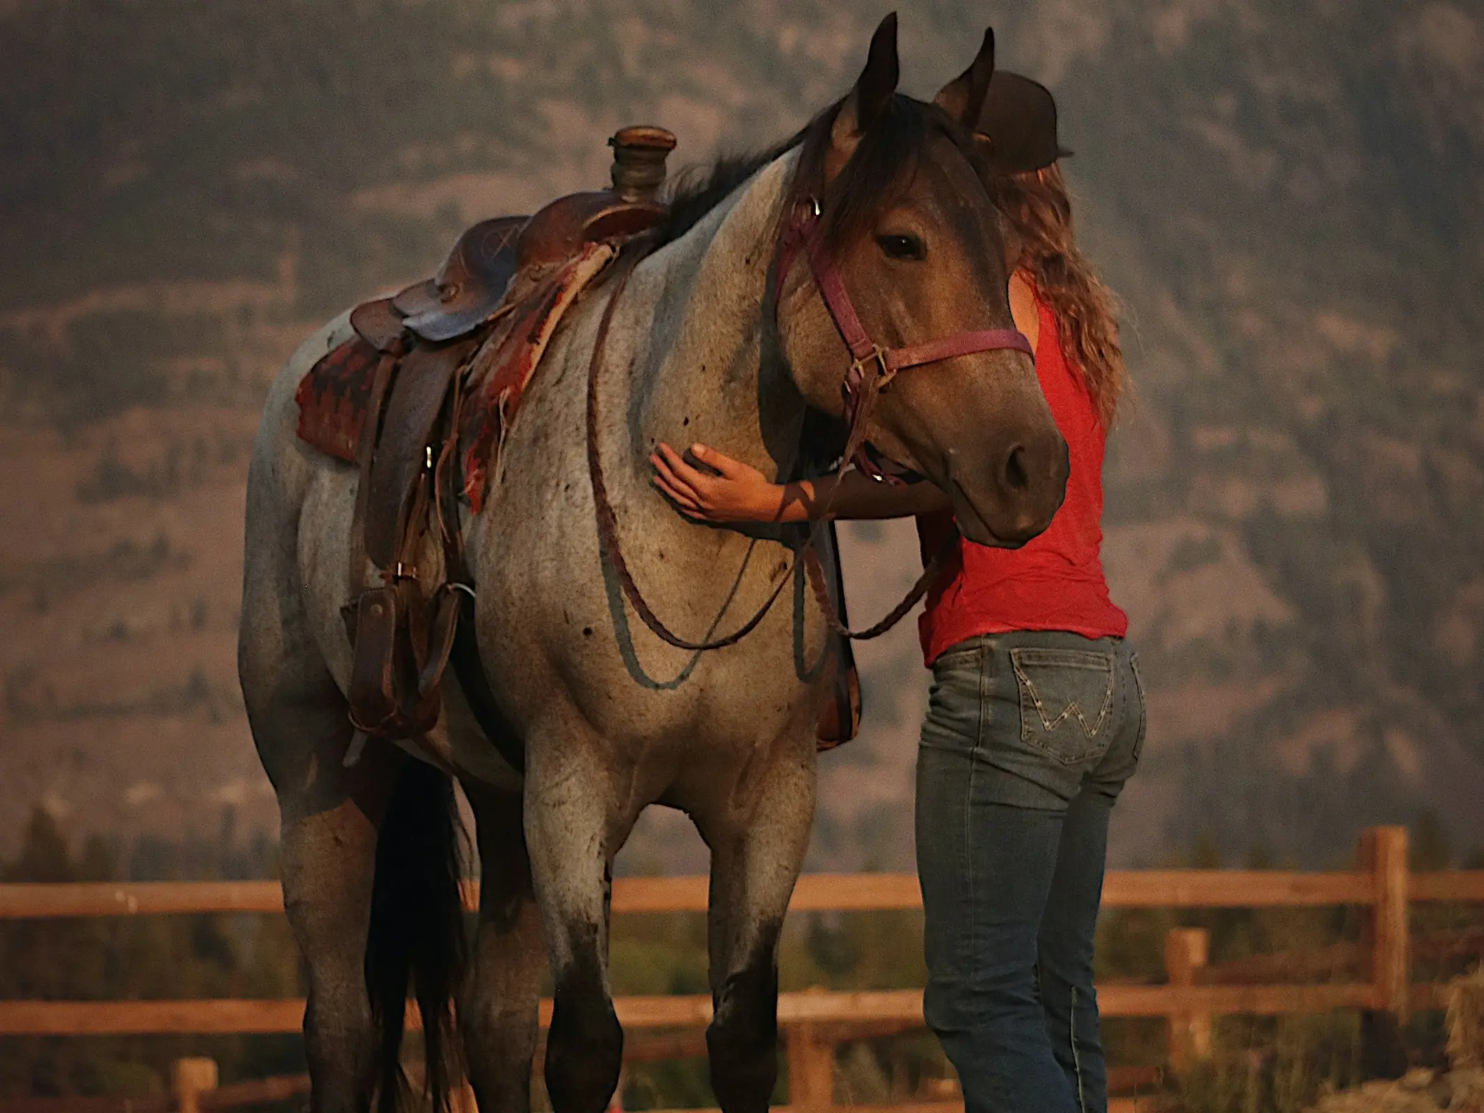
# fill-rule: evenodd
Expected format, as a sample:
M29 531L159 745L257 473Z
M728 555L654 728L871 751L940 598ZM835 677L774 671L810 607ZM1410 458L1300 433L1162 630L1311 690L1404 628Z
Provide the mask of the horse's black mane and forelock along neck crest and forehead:
M818 197L830 132L841 104L843 99L835 101L798 134L764 151L724 154L706 168L683 171L656 246L684 236L742 183L794 147L801 147L801 151L791 191L795 197ZM988 169L966 128L938 105L898 93L861 137L859 147L825 197L822 217L827 240L841 243L859 234L877 212L899 197L926 157L928 144L938 135L948 138L979 180L988 183Z

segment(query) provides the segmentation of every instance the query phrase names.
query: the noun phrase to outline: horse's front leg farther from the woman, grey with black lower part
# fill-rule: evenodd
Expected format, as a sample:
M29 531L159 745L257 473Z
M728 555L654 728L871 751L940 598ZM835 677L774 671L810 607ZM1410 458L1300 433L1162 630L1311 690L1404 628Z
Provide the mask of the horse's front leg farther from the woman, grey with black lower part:
M527 754L525 840L554 982L546 1092L555 1113L603 1113L623 1061L608 985L611 755L577 723L533 730Z

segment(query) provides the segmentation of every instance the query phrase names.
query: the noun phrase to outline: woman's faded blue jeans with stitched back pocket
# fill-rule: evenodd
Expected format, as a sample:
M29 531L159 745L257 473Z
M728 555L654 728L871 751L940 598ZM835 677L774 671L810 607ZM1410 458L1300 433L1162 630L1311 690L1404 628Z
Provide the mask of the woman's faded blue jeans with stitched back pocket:
M933 663L917 752L928 1024L968 1113L1106 1113L1092 990L1109 816L1144 742L1120 638L991 634Z

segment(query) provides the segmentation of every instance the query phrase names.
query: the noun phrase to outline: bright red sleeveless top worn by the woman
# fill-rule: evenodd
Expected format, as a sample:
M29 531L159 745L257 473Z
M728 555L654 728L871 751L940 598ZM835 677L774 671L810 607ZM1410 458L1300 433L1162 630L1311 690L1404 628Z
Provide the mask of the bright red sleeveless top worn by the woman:
M1061 353L1057 318L1039 301L1037 312L1036 375L1070 451L1067 499L1046 531L1020 549L959 539L957 555L919 619L928 665L950 646L981 634L1055 629L1120 638L1128 632L1128 616L1109 598L1100 558L1107 435L1082 377ZM919 516L923 559L956 528L950 512Z

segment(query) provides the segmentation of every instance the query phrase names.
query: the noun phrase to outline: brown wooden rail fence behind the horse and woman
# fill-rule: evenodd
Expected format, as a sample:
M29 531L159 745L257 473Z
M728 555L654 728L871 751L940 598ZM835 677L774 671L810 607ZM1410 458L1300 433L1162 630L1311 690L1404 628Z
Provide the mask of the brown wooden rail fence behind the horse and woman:
M1413 1009L1441 1006L1441 985L1410 978L1410 905L1419 902L1484 902L1484 870L1413 874L1407 865L1407 831L1373 828L1362 834L1361 868L1336 873L1278 870L1113 871L1104 908L1260 908L1358 905L1364 910L1359 947L1339 962L1364 976L1322 984L1233 984L1208 971L1209 941L1193 929L1169 932L1168 979L1160 985L1098 987L1104 1017L1162 1017L1171 1025L1171 1063L1177 1068L1209 1054L1212 1018L1279 1015L1358 1008L1404 1020ZM466 887L470 908L478 886ZM700 913L705 877L634 877L613 883L613 911ZM922 907L910 874L806 874L791 910L883 911ZM282 911L276 881L196 881L120 884L0 884L0 919L160 916L186 913ZM1334 957L1334 956L1331 956ZM1261 974L1261 960L1254 972ZM1211 976L1215 974L1217 976ZM629 1058L677 1058L699 1054L699 1030L711 1020L709 996L620 997L623 1027L637 1033ZM141 1033L294 1033L303 1000L125 1000L0 1002L0 1036L79 1036ZM551 1002L542 1002L542 1024ZM789 1104L825 1109L834 1100L834 1052L852 1039L923 1027L920 990L784 993L778 1002L789 1064ZM686 1030L695 1036L659 1036ZM643 1033L656 1033L644 1036ZM206 1088L209 1091L209 1088ZM208 1106L218 1101L203 1095Z

